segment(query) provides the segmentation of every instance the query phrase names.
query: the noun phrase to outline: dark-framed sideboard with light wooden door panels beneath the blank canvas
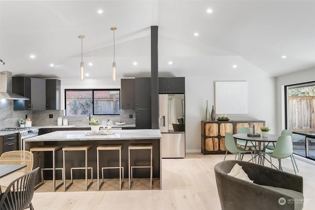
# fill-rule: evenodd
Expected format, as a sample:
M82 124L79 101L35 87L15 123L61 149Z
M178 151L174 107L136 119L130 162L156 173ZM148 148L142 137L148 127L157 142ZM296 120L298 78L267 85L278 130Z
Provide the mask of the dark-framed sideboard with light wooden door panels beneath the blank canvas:
M201 152L203 154L224 154L225 132L238 133L240 127L252 127L261 133L260 127L265 125L262 120L229 120L201 121Z

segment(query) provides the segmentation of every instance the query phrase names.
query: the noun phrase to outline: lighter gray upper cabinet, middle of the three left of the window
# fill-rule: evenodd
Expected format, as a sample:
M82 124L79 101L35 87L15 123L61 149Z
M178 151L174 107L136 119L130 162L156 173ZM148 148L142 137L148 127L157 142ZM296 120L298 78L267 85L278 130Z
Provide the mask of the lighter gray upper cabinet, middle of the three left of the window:
M31 78L32 110L46 109L46 80Z

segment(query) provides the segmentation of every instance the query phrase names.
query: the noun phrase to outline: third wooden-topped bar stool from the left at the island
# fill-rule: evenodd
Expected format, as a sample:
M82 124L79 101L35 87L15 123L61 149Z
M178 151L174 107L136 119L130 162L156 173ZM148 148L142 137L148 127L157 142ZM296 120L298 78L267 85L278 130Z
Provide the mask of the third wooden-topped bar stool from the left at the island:
M97 150L97 189L102 187L104 183L104 169L119 169L119 189L122 190L124 184L124 166L122 166L122 149L124 148L123 144L114 144L114 145L100 145L96 148ZM102 167L102 182L99 185L99 150L119 150L119 166L114 167ZM122 182L122 171L123 171L123 182Z

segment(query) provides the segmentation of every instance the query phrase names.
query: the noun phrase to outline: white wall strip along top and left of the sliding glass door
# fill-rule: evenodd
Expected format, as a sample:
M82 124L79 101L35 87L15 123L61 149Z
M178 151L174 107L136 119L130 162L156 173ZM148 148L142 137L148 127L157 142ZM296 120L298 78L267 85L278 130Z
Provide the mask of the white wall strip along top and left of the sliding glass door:
M296 83L315 81L315 68L295 73L286 74L277 78L277 119L278 119L278 133L285 127L285 112L284 112L284 86Z

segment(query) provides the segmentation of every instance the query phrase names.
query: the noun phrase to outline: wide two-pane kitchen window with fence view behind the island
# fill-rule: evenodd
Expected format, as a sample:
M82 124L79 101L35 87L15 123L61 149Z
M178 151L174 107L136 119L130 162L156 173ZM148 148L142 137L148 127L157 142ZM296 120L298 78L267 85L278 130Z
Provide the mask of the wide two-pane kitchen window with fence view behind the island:
M120 114L120 89L64 91L67 116Z

